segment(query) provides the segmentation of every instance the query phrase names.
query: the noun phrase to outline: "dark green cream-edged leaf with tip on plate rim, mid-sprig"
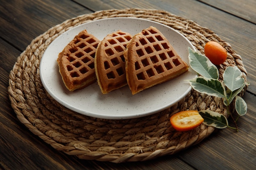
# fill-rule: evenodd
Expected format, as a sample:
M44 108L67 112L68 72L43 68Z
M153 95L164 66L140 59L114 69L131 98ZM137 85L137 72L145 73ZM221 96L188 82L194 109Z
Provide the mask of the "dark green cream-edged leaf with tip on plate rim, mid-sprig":
M217 79L199 76L189 80L189 83L193 89L200 93L216 97L225 97L226 95L223 84Z

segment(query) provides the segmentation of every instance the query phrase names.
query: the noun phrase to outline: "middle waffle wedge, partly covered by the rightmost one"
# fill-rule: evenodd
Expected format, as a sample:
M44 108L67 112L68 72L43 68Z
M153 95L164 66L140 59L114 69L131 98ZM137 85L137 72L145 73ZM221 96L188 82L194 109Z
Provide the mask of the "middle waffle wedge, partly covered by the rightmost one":
M106 94L127 85L124 50L131 38L130 33L119 30L99 43L94 66L101 93Z

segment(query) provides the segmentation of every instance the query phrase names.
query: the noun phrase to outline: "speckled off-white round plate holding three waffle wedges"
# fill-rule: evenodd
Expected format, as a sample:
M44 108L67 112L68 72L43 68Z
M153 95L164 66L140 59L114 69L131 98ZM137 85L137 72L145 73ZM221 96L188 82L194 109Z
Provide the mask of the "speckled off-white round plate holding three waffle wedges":
M128 119L157 113L179 102L191 91L186 79L192 79L197 74L189 71L157 86L132 95L128 86L101 94L96 83L74 92L65 88L56 62L58 53L83 29L93 34L99 40L117 30L126 31L132 35L149 26L155 26L169 40L177 53L189 64L188 47L195 49L182 34L170 27L138 18L107 18L95 20L76 26L61 34L45 50L40 62L40 77L47 92L63 106L78 113L104 119Z

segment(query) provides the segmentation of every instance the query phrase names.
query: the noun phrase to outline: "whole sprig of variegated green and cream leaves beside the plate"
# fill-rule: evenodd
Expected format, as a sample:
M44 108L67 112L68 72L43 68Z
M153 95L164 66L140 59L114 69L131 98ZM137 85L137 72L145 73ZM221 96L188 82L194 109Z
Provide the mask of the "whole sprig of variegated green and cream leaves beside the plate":
M240 116L247 113L247 104L238 94L243 90L245 85L249 85L249 82L245 82L245 79L242 77L242 72L237 66L229 66L224 71L223 82L221 82L219 80L218 68L206 56L193 51L190 47L189 64L199 74L198 77L189 80L191 87L200 93L223 98L223 103L227 106L227 113L233 119L236 127L229 126L228 120L224 115L211 110L199 111L199 114L204 118L203 123L216 128L229 127L238 131L236 122ZM238 114L236 120L230 109L230 104L234 99L236 113Z

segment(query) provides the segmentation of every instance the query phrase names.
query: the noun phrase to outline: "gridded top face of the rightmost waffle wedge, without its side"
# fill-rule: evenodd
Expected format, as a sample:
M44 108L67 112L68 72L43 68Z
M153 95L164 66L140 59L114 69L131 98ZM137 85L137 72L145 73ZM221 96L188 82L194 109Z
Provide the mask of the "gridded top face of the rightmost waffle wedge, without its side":
M140 59L135 62L137 80L152 79L155 75L171 71L181 64L180 58L173 53L173 48L166 43L163 35L153 29L144 30L142 34L145 38L140 38L135 44Z

